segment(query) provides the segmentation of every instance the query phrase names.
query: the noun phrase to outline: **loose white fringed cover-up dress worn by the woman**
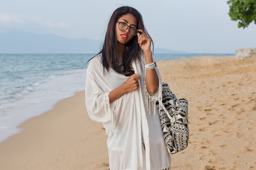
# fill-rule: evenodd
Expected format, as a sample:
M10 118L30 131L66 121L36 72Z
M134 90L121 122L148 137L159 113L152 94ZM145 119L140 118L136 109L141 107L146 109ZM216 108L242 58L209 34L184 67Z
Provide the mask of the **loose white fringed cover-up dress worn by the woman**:
M126 93L111 104L109 93L126 82L128 77L101 65L101 54L90 60L85 83L85 105L90 119L102 122L108 135L110 170L171 170L171 157L166 149L155 101L162 101L162 78L156 93L146 90L145 55L141 66L132 62L135 73L140 74L139 89ZM153 59L153 61L155 61ZM141 128L144 144L141 145Z

